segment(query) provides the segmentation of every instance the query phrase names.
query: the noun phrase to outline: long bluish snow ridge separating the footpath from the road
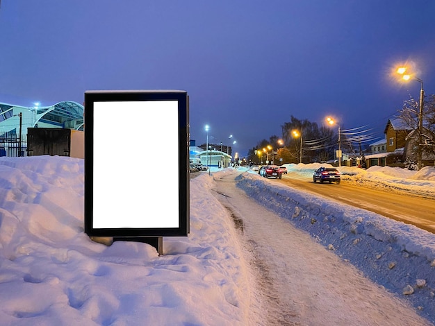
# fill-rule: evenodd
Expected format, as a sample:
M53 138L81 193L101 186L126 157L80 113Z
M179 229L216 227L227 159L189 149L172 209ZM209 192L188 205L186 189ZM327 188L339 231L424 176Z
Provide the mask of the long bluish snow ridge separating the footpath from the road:
M370 279L406 295L435 321L435 237L413 225L292 189L255 173L236 178L251 198L306 230Z

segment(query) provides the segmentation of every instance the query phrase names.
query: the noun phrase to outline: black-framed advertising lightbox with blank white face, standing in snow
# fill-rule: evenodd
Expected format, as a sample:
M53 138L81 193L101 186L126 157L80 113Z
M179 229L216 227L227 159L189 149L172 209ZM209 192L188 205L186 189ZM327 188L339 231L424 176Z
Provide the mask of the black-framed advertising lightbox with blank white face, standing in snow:
M85 232L171 237L189 232L188 95L85 92Z

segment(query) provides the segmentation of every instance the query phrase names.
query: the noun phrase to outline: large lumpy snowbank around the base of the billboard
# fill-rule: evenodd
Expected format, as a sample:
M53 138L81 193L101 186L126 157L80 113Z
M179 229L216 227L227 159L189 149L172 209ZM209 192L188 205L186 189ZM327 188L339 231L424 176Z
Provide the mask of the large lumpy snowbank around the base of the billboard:
M211 178L191 182L190 236L158 257L83 233L83 162L0 157L0 325L249 324L249 275Z

